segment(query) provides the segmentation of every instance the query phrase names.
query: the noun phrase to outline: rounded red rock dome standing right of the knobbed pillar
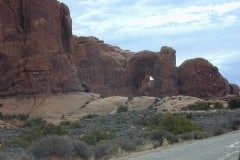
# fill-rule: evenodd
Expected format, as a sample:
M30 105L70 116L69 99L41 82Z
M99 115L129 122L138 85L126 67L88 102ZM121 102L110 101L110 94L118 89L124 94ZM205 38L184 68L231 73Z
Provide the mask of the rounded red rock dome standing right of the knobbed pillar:
M207 60L185 61L178 68L179 93L196 97L223 97L228 94L228 84Z

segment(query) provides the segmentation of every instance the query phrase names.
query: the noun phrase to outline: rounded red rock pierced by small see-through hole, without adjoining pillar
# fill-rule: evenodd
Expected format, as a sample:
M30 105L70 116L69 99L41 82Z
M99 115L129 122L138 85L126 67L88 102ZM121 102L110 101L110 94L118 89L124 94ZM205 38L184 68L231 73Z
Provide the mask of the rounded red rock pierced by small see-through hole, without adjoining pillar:
M160 60L156 53L142 51L127 64L127 86L133 95L160 96ZM150 80L150 76L154 80Z

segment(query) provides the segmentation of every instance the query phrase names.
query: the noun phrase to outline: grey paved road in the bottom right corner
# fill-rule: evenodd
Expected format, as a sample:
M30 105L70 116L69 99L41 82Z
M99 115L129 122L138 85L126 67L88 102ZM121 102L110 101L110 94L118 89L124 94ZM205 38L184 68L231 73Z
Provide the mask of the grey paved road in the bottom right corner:
M147 153L137 153L118 160L239 160L240 131Z

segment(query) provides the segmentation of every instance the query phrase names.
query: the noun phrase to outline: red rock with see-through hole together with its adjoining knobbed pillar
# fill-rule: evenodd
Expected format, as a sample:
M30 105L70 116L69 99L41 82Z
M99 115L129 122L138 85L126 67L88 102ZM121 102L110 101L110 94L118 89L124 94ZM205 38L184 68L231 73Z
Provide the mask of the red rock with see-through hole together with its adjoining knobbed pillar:
M177 95L175 53L173 48L164 46L157 53L142 51L132 56L127 65L127 84L133 94Z

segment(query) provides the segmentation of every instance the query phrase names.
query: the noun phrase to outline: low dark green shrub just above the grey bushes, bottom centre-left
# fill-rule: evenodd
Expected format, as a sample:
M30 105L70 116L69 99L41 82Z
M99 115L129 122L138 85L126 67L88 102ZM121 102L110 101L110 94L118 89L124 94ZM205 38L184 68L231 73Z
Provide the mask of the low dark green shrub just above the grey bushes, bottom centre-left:
M101 140L109 140L113 139L114 137L115 135L111 132L92 131L83 135L83 137L81 137L80 140L86 142L89 145L96 145Z

